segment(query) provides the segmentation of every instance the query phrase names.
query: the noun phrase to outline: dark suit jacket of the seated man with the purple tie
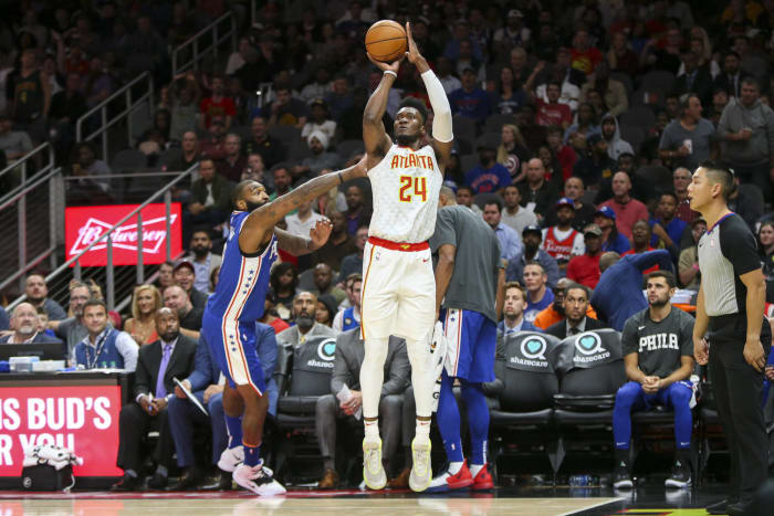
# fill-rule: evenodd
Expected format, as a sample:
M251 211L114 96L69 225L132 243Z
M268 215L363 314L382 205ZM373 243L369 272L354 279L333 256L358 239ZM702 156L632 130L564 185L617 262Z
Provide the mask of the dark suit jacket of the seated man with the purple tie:
M139 348L137 357L137 369L135 370L135 388L132 398L138 394L153 392L156 394L156 381L158 369L161 366L161 340L146 344ZM169 357L167 370L164 373L164 387L167 393L175 391L172 378L182 380L194 370L194 357L196 356L196 340L180 334L175 344L172 356Z

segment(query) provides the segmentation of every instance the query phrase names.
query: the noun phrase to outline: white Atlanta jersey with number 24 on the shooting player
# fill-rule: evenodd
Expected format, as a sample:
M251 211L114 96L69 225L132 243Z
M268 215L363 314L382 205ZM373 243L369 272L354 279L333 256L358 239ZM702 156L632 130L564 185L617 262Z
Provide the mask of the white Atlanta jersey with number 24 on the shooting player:
M426 145L415 151L393 145L368 177L374 193L369 236L407 243L432 236L443 185L432 147Z

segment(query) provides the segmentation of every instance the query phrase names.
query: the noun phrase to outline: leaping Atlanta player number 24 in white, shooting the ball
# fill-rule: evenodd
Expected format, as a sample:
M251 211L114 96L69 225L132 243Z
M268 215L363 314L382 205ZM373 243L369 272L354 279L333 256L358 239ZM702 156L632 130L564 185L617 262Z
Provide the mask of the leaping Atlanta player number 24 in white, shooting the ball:
M381 116L402 57L394 63L372 59L384 75L363 114L363 139L374 192L374 215L363 260L360 308L365 340L360 369L366 432L363 476L372 489L380 489L387 483L381 464L378 414L387 339L396 335L406 339L417 403L409 486L414 491L425 491L432 478L430 420L436 381L430 354L436 322L436 281L427 241L435 230L438 192L451 156L453 136L451 107L443 86L419 53L408 23L406 33L408 52L405 56L421 73L435 113L435 141L426 141L425 104L411 97L400 104L395 117L397 144L387 136Z

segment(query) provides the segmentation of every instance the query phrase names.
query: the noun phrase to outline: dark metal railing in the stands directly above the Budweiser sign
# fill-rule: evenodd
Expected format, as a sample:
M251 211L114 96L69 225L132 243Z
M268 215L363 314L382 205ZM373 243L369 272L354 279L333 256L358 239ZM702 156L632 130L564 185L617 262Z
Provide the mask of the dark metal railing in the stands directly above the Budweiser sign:
M136 86L142 83L146 83L144 93L137 98L133 98L133 91ZM124 106L116 113L114 101L123 98ZM148 108L148 120L151 119L151 112L154 107L154 81L148 72L144 72L138 77L135 77L127 84L125 84L121 89L115 92L109 97L102 101L96 106L84 113L81 118L75 123L75 140L76 141L91 141L97 136L102 139L102 158L107 159L109 156L107 151L107 130L115 126L116 124L126 119L126 146L133 146L134 128L132 116L140 107ZM108 113L108 109L111 113ZM91 120L95 119L95 114L98 113L98 123L96 128L90 131L88 124L93 124ZM108 116L111 117L108 119Z

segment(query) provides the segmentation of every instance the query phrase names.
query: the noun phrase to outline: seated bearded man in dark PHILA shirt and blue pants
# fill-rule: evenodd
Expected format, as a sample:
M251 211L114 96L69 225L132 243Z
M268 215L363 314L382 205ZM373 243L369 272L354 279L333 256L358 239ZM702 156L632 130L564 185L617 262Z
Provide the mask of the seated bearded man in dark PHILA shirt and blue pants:
M660 404L674 411L677 457L667 487L691 485L691 418L693 396L693 317L673 307L669 299L677 283L669 271L648 274L648 308L628 318L621 346L629 379L616 394L613 435L616 442L616 471L613 486L631 488L629 441L631 412Z

